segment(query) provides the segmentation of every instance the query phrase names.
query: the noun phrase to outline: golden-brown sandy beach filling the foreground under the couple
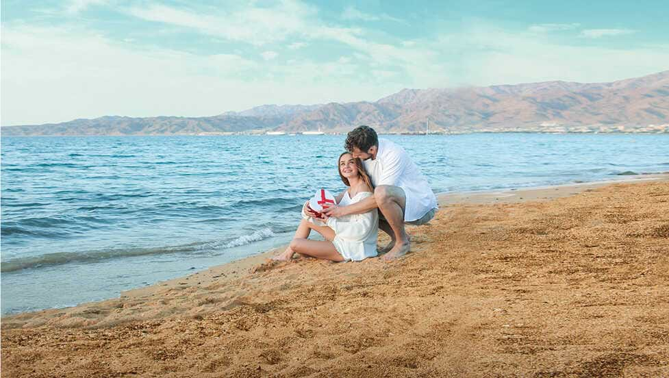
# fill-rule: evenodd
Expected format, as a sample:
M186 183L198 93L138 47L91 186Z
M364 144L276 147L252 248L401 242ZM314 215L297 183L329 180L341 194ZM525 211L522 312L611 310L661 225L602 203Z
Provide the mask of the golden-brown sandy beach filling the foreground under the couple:
M2 318L3 377L669 377L669 179L440 198L385 263L265 255Z

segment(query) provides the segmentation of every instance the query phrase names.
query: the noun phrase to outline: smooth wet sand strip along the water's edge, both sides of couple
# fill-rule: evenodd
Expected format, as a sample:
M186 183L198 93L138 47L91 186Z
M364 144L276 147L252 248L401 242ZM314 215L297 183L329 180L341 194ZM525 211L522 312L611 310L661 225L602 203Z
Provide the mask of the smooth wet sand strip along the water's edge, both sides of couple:
M525 203L529 201L550 201L553 199L570 197L581 192L594 190L604 186L613 184L629 184L635 182L650 182L650 181L669 181L669 173L657 174L640 174L620 177L618 179L610 179L606 181L590 181L574 184L560 184L555 186L537 186L526 188L508 188L501 190L477 190L470 192L442 192L437 194L438 204L440 206L439 212L443 212L445 207L451 205L494 205L494 204L509 204L509 203ZM411 231L415 226L409 226L407 229ZM379 233L381 235L382 233ZM380 236L381 242L386 242L385 235ZM268 262L268 259L275 255L275 253L285 248L285 244L281 244L277 248L266 250L262 253L257 253L247 257L242 257L239 260L218 264L205 268L199 272L192 273L168 279L164 281L157 281L149 286L142 286L130 290L124 290L118 297L111 299L104 299L102 301L92 301L79 303L78 305L70 307L49 308L45 310L36 310L28 312L18 312L14 314L2 315L0 318L5 325L12 325L18 320L18 324L24 324L25 318L45 316L69 316L73 313L78 313L79 309L88 309L90 307L97 307L97 305L106 305L108 303L117 303L125 301L144 301L151 297L160 297L171 290L190 290L193 288L205 288L214 283L222 281L228 282L242 278L248 275L249 272L258 266L260 271L265 268L262 264ZM129 319L132 320L132 319ZM28 322L30 323L30 322ZM78 322L73 322L72 325L92 325L86 319L81 319Z

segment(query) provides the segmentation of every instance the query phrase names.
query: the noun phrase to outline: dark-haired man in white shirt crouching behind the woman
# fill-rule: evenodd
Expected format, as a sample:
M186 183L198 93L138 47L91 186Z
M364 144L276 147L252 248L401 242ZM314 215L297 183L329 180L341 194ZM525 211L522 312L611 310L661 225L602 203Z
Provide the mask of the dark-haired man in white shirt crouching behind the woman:
M376 131L369 126L356 127L349 132L344 147L363 161L374 195L352 205L331 206L323 212L337 218L378 207L379 228L391 238L390 244L381 250L387 252L383 259L405 255L410 242L404 225L424 225L437 210L437 199L427 179L402 147L390 140L379 140Z

